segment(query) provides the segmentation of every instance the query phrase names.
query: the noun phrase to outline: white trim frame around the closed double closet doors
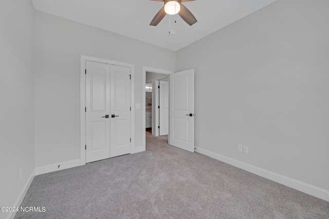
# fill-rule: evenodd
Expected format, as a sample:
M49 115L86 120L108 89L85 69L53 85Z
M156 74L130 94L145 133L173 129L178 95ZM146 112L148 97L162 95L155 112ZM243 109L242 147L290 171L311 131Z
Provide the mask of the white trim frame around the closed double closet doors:
M130 81L130 105L132 110L130 112L130 135L132 138L130 144L130 153L137 153L139 151L135 151L135 96L134 96L134 84L135 84L135 65L124 62L117 62L113 60L101 59L96 57L89 56L80 56L80 165L86 164L86 117L85 117L85 107L86 107L86 77L85 77L85 69L86 69L86 61L90 62L99 62L109 65L119 65L123 67L130 68L131 81ZM145 85L144 85L145 90ZM145 95L145 94L144 94ZM144 100L145 101L145 100ZM144 103L145 105L145 103ZM145 108L144 108L145 111ZM144 113L145 117L145 113ZM145 119L144 119L145 120ZM145 121L144 121L145 126Z

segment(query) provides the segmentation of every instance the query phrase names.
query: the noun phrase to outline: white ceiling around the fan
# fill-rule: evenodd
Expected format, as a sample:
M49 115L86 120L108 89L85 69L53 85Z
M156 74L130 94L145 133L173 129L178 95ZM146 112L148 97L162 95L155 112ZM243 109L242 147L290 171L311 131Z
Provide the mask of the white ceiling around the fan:
M178 14L150 26L163 2L150 0L32 0L36 10L167 48L181 49L276 0L197 0L183 3L196 17L189 26ZM176 23L175 23L176 20ZM174 35L169 35L174 30Z

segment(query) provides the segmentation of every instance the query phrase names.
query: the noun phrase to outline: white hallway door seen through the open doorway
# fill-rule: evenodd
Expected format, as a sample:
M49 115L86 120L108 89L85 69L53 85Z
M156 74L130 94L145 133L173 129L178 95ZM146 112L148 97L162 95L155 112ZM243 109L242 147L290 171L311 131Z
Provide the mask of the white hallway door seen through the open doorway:
M169 131L169 82L159 81L159 135Z

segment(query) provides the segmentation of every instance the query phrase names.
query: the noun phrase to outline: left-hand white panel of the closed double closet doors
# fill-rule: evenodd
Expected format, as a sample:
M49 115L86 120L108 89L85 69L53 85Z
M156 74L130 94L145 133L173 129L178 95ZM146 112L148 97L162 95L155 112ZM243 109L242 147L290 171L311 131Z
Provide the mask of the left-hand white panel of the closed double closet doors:
M109 158L110 66L86 62L86 162Z

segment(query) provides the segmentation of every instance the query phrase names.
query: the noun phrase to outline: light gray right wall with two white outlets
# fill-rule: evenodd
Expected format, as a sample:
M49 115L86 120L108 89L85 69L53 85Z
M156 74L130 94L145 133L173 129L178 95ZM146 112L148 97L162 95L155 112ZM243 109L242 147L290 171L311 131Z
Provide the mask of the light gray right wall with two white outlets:
M196 147L329 190L328 8L279 0L176 52Z

